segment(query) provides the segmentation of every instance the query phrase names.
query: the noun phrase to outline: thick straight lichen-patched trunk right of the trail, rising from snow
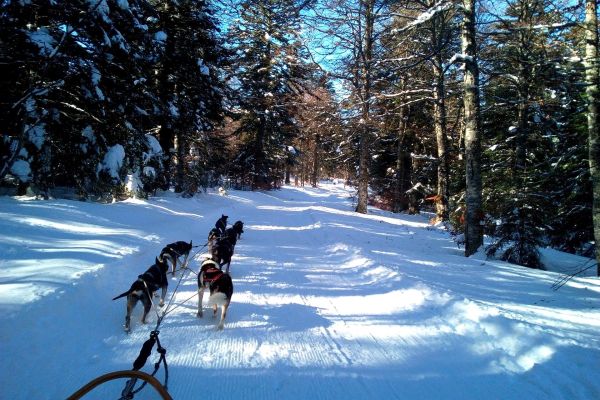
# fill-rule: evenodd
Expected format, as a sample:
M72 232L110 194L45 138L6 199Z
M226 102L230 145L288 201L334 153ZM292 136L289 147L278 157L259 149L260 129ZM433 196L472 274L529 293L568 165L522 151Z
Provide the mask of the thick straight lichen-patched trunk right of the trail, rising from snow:
M463 0L462 52L465 57L465 256L483 245L479 69L475 44L475 0Z

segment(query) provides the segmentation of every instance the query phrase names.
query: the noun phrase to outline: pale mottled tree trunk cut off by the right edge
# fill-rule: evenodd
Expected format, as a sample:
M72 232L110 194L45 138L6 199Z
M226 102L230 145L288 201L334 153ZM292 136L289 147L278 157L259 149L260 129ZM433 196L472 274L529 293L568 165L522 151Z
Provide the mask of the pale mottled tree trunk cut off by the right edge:
M598 6L596 0L585 3L585 75L588 96L589 164L593 190L594 239L596 242L596 274L600 276L600 138L598 135Z

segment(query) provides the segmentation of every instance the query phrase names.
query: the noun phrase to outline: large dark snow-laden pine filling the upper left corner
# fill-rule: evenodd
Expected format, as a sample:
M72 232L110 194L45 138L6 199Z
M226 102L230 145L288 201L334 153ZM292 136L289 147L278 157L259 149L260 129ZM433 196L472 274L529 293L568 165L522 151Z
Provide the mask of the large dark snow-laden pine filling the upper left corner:
M31 182L46 195L57 185L83 196L123 186L148 148L152 96L139 83L152 62L141 22L151 10L143 1L74 1L10 2L5 11L23 41L13 53L21 93L12 97L11 134ZM115 146L124 149L118 170L103 162Z

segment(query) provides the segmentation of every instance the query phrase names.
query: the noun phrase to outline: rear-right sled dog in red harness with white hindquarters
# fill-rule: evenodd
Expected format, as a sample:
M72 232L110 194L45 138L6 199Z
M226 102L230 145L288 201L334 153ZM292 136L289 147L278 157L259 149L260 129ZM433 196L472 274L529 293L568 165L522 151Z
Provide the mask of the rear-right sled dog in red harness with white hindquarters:
M204 291L209 289L209 303L213 305L213 317L217 316L217 307L221 306L221 319L217 325L218 329L223 329L227 309L231 303L233 295L233 281L227 272L221 271L217 262L211 258L204 260L198 273L198 313L202 317L202 298Z

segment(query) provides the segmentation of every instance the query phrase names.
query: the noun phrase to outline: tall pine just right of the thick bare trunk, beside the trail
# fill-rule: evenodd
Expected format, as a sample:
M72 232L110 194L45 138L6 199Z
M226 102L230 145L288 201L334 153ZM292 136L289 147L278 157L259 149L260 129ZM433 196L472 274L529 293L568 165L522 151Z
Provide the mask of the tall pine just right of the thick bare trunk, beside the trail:
M495 67L502 73L492 77L487 91L491 102L504 100L487 115L488 131L496 135L489 153L487 205L500 221L488 254L541 268L537 249L546 244L554 209L550 193L556 175L550 162L561 132L555 121L563 113L555 94L564 90L553 61L563 54L552 42L560 15L549 11L545 1L511 3L507 15L494 31Z

